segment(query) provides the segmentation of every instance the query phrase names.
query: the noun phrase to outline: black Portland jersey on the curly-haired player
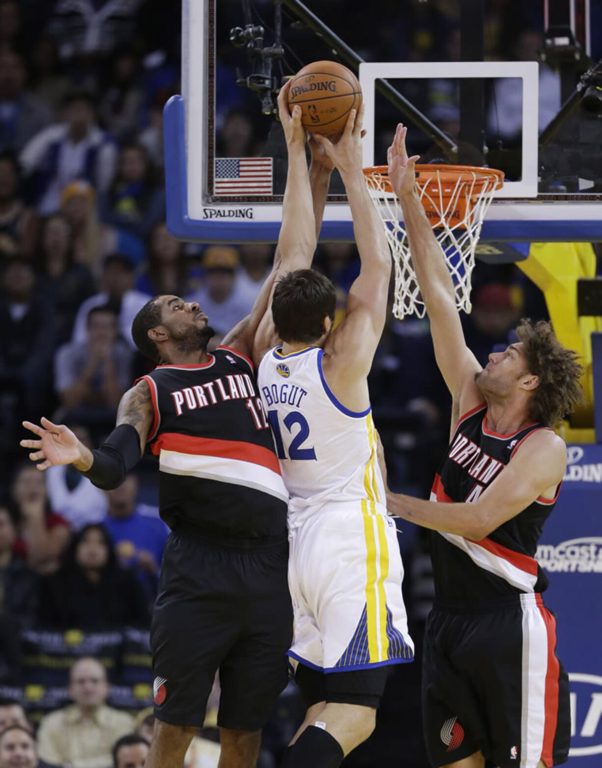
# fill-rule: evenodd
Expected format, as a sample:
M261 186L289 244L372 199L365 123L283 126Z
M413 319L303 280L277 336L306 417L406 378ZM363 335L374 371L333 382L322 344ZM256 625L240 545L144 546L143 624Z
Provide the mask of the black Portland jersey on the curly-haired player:
M476 502L514 452L541 424L512 435L498 435L485 424L485 403L465 414L456 426L448 453L435 476L431 499ZM432 535L435 595L452 603L488 603L524 592L542 592L547 577L534 558L544 521L557 499L537 498L526 509L481 541L448 533Z

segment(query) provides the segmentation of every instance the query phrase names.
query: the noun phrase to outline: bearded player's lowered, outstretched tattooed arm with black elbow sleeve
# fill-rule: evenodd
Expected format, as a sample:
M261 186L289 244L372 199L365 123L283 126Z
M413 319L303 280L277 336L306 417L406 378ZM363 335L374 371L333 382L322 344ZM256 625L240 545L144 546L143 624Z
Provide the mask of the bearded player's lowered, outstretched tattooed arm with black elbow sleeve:
M117 426L101 447L91 451L64 424L42 418L40 425L23 422L38 436L22 440L38 469L72 464L98 488L117 488L140 461L154 419L151 389L142 379L125 392L117 409Z

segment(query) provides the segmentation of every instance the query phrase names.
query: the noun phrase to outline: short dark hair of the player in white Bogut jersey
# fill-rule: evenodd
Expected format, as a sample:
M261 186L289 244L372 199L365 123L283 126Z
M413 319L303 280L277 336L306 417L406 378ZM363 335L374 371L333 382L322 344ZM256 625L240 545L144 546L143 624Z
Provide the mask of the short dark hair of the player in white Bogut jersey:
M335 286L315 270L289 272L274 290L272 316L283 341L316 341L324 333L324 318L334 320L335 310Z

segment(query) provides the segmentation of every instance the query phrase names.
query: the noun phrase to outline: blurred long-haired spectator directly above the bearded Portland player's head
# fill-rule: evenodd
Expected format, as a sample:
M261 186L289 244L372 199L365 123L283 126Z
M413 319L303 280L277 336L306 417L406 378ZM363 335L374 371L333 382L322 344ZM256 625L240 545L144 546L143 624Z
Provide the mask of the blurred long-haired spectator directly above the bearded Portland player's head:
M164 221L156 224L148 237L147 268L138 277L137 290L149 296L185 296L188 272L183 243L167 232Z

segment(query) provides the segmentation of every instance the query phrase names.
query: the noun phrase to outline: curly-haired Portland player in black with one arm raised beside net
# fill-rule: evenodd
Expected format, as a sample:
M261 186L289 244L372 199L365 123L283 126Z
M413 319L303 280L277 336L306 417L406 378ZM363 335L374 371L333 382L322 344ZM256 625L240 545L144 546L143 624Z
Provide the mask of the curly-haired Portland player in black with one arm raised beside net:
M392 186L453 398L432 501L387 496L389 511L437 531L422 684L428 756L433 766L549 768L567 760L571 719L556 620L541 598L547 578L534 554L567 463L551 428L580 399L582 369L548 323L527 320L518 343L481 369L399 128L394 151Z

